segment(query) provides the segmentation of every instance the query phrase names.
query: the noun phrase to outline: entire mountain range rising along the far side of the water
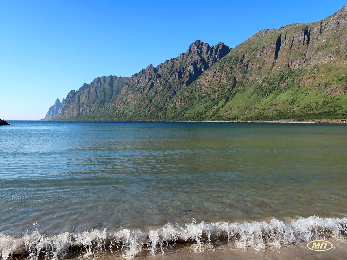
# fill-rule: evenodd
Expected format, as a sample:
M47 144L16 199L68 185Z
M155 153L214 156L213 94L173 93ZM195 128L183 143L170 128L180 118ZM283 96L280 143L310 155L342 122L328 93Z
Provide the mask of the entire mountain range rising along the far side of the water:
M261 30L235 48L196 41L131 77L102 76L43 120L274 120L347 116L347 5Z

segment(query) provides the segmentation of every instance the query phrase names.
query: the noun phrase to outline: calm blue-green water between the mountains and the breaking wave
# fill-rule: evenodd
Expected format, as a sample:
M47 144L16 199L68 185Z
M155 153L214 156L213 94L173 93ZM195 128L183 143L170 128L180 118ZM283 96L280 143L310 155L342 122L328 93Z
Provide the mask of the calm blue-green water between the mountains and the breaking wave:
M9 121L0 233L347 215L347 125Z

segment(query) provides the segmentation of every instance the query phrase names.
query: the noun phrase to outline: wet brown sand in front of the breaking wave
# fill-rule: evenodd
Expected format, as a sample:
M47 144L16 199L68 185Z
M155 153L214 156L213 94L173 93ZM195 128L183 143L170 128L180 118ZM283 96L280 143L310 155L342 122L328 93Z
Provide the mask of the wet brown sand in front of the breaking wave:
M184 246L172 249L172 251L164 252L164 254L155 255L139 255L135 260L224 260L224 259L240 259L240 260L265 260L265 259L341 259L347 258L347 241L346 240L328 240L333 244L333 248L328 251L315 252L307 248L308 242L296 245L283 246L263 251L254 250L233 250L230 246L221 245L213 249L206 249L203 253L195 253L192 246ZM147 253L149 253L147 251ZM122 257L112 255L104 255L99 259L102 260L120 260Z

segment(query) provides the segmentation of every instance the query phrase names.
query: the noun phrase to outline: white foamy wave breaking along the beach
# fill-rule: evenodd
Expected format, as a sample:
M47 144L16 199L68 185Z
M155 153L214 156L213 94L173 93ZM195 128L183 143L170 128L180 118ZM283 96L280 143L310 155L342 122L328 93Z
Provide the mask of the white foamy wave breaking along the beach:
M47 260L57 260L67 258L68 250L81 250L78 252L81 259L95 259L101 252L118 249L125 259L133 259L143 250L148 250L151 254L163 253L178 241L191 243L196 252L203 252L206 247L211 248L213 244L223 243L238 249L262 250L272 246L281 247L346 235L347 217L323 219L315 216L293 219L291 224L275 218L270 223L263 221L243 224L207 224L204 221L193 221L184 227L167 223L162 228L149 232L130 232L129 229L107 232L106 229L94 229L90 232L65 232L48 236L33 230L20 237L0 234L0 256L2 260L7 260L13 255L23 255L28 260L37 260L43 255Z

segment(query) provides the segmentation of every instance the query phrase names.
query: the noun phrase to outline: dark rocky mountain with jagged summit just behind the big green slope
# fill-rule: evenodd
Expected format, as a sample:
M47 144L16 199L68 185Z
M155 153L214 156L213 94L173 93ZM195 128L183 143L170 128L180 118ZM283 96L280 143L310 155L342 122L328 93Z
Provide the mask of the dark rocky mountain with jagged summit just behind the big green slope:
M123 108L129 102L129 105L143 103L144 108L153 101L166 102L229 52L228 46L222 42L210 46L206 42L195 41L178 57L156 67L149 65L134 74L128 87L117 98L119 104L116 106Z

